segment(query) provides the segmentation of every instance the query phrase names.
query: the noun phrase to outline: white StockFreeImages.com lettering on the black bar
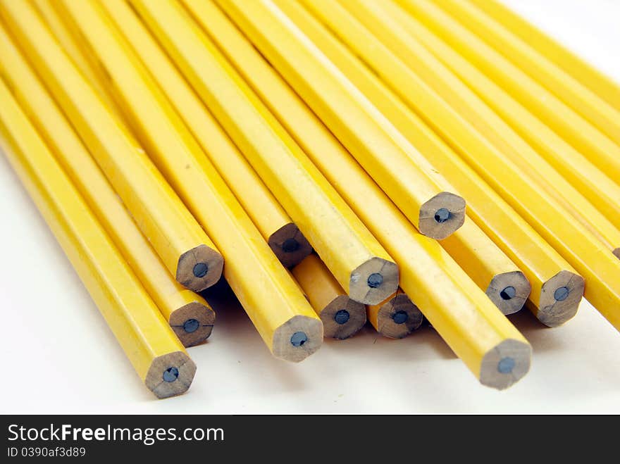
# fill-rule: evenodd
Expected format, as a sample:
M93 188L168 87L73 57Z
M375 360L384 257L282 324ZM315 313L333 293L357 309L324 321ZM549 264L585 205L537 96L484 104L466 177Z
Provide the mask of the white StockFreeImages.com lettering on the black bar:
M157 441L224 441L221 428L187 428L178 431L172 428L155 427L73 427L70 424L49 427L23 427L18 424L8 426L9 441L135 441L147 446Z

